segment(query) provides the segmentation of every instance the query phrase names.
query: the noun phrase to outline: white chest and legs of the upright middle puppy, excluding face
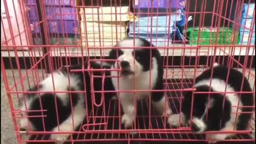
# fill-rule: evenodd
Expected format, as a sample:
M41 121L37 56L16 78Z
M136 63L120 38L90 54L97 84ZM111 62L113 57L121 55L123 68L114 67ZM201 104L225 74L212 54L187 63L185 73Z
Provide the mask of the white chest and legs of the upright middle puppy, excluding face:
M119 99L121 102L121 106L124 111L124 115L122 116L122 124L125 127L132 126L134 121L134 100L148 98L150 96L149 90L154 89L157 82L157 62L156 59L153 58L152 61L152 69L149 71L145 71L140 73L139 75L123 77L119 76L117 71L111 71L111 76L115 76L112 78L112 83L115 87L115 90L119 91L127 91L127 92L119 92ZM143 92L134 92L134 90L143 90ZM164 113L165 111L165 97L163 97L159 102L156 102L156 108ZM171 110L168 108L168 113L171 113Z

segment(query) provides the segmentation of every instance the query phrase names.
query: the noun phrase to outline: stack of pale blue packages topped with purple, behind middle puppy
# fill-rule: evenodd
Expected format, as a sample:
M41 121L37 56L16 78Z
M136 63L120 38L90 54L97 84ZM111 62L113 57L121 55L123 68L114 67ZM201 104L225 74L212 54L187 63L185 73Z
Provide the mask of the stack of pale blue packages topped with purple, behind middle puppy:
M131 20L129 36L148 39L156 46L167 46L174 41L174 35L185 40L176 24L186 23L184 8L185 0L134 0L136 19ZM171 13L171 14L170 14Z

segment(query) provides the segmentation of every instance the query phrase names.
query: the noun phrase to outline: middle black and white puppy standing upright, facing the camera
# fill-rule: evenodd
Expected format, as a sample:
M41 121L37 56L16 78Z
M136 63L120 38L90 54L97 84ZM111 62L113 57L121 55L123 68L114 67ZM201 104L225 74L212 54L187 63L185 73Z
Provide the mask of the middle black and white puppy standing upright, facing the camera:
M134 43L135 49L133 49ZM147 47L147 49L139 47ZM132 91L164 89L161 55L146 39L127 38L118 42L116 47L110 51L109 58L119 61L112 63L112 69L119 68L118 63L120 63L122 69L121 73L119 71L111 71L115 90ZM150 94L154 106L161 114L172 114L163 91L135 93L137 99L148 98ZM133 92L119 93L119 99L124 111L122 123L125 127L131 127L134 121L134 98Z

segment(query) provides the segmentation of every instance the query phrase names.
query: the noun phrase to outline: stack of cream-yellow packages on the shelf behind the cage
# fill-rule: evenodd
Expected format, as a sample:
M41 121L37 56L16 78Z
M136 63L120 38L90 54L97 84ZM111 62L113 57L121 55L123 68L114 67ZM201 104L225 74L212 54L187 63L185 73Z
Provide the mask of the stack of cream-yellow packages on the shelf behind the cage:
M81 8L82 45L110 47L126 37L128 6L95 6Z

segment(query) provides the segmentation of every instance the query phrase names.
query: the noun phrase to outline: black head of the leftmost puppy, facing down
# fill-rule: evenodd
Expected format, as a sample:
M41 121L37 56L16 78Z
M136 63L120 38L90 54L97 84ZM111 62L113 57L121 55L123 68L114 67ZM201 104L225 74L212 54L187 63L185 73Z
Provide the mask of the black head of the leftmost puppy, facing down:
M73 107L77 105L79 96L77 93L70 93ZM41 100L40 100L41 99ZM40 101L42 102L42 108ZM56 105L55 105L56 101ZM46 111L29 111L29 121L35 126L37 131L51 131L55 126L65 121L71 114L71 103L68 97L67 105L64 105L59 97L55 97L53 93L45 93L35 98L29 107L30 110L46 110ZM58 111L57 111L58 109ZM43 117L44 115L45 117ZM58 115L58 118L57 118ZM38 116L38 117L34 117ZM44 127L44 126L45 127Z

